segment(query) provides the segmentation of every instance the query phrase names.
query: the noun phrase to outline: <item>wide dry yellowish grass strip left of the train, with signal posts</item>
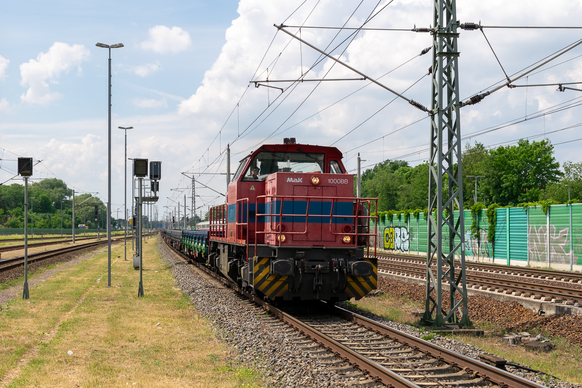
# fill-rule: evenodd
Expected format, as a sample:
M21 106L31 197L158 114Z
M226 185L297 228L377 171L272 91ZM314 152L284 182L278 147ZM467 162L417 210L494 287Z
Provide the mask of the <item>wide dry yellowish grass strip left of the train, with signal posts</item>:
M229 350L175 287L157 239L144 240L139 271L113 248L56 273L0 311L0 376L9 387L253 387L253 369ZM120 258L117 256L120 255ZM72 355L68 354L72 351Z

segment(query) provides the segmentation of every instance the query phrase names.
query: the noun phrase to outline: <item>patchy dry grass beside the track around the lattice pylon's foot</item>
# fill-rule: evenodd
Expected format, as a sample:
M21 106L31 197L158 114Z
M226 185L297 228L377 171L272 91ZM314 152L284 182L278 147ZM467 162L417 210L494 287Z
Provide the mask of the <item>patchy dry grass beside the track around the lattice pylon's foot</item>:
M414 317L412 313L419 309L424 310L424 303L385 295L372 298L364 297L359 301L352 301L352 305L407 325L418 323L419 319ZM488 325L488 322L473 323L481 328ZM484 337L452 335L449 337L496 354L508 361L550 373L560 379L582 383L582 349L579 346L570 344L560 337L553 337L551 340L556 344L556 348L550 353L539 354L526 351L523 346L514 347L502 343L500 334L502 333L488 333Z

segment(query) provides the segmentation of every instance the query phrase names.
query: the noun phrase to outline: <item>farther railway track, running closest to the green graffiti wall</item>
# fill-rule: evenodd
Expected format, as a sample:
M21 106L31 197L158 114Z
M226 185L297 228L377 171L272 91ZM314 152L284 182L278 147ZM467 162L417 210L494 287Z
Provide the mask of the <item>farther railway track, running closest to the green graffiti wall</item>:
M377 252L378 258L386 258L394 261L417 262L427 265L427 259L416 256L395 255L389 253ZM569 272L556 269L541 269L531 267L521 267L514 265L490 264L467 261L465 263L467 270L481 270L504 275L515 275L524 277L533 277L536 279L559 280L566 283L582 283L582 273Z

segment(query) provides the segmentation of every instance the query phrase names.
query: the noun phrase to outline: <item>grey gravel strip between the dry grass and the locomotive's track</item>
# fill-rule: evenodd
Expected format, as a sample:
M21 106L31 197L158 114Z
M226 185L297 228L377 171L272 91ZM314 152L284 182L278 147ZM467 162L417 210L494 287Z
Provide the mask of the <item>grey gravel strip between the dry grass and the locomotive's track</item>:
M236 361L265 373L268 386L382 386L357 370L335 371L347 364L279 319L268 316L235 291L186 264L161 239L158 247L178 287L190 296L198 313L215 326L221 340L235 348Z

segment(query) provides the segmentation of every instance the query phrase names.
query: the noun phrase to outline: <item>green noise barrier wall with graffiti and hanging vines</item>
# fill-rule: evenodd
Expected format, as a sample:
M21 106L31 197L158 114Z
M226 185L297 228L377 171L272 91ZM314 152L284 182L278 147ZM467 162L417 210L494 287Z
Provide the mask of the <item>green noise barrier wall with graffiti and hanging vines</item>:
M455 212L455 217L459 211ZM490 243L485 210L478 216L478 237L471 232L471 212L465 210L466 257L508 265L536 265L582 270L582 204L496 209L495 238ZM379 220L378 248L408 254L427 252L424 214ZM443 236L448 230L443 227ZM458 243L458 241L457 241ZM449 247L443 247L448 253Z

